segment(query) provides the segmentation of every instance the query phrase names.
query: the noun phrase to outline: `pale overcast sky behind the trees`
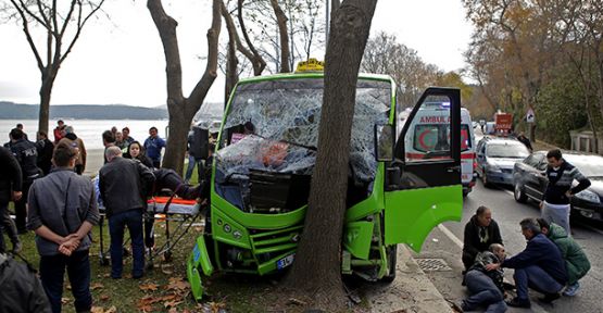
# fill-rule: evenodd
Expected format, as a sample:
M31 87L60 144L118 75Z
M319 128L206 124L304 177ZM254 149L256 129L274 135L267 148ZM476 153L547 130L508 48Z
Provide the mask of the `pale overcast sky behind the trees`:
M211 1L164 1L178 25L185 95L199 80L205 63L205 33ZM111 20L92 21L59 71L52 91L55 104L165 103L165 61L146 1L109 0ZM463 67L472 26L460 0L379 0L372 34L394 34L427 63L444 71ZM226 27L223 24L223 35ZM0 25L0 101L38 103L40 74L18 24ZM317 53L324 53L319 51ZM323 55L316 55L323 60ZM210 102L223 100L222 73L210 90Z

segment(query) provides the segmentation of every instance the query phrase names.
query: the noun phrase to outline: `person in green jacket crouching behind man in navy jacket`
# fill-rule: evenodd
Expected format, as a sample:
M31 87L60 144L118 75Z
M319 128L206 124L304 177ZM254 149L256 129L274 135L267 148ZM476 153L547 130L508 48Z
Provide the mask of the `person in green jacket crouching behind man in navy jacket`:
M565 233L565 229L555 223L549 224L544 218L538 218L542 234L547 235L561 251L565 266L567 268L567 288L563 291L563 296L576 296L580 289L578 280L590 270L590 262L587 254L578 246L578 243Z

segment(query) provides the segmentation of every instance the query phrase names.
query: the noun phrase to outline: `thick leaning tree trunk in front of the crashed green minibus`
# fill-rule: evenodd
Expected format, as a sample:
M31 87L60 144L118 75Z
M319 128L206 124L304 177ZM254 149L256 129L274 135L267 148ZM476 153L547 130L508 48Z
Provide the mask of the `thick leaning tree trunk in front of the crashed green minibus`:
M287 284L319 306L341 309L341 237L357 73L377 1L348 0L331 21L318 153L303 236Z

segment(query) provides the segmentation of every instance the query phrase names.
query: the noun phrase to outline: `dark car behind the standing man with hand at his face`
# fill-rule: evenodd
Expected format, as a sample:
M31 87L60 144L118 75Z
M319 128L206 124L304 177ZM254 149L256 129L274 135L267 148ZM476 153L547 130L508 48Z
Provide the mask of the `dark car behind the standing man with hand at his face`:
M577 152L564 152L563 159L578 167L592 183L589 188L571 197L571 213L580 216L603 220L603 156ZM549 179L547 171L547 151L537 151L513 168L514 197L518 202L528 199L540 202L547 190ZM575 184L577 184L575 181Z

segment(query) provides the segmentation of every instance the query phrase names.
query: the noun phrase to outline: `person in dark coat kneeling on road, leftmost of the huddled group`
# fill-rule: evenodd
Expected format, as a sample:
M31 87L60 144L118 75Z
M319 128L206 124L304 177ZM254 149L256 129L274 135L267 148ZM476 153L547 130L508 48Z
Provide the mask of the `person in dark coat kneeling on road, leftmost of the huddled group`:
M492 220L492 210L481 205L465 225L463 238L463 264L468 270L479 252L488 251L490 245L502 242L501 230Z

